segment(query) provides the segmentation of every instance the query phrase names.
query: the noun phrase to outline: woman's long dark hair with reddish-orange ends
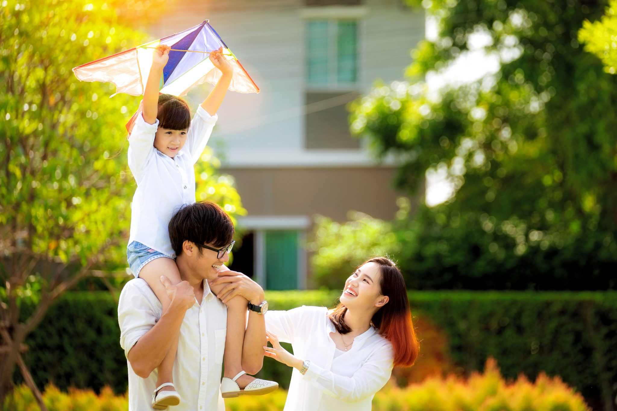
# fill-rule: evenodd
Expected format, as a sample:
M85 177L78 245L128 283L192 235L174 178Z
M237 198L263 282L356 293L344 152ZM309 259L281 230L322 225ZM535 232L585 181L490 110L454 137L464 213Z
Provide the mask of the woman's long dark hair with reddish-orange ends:
M418 338L416 338L416 332L413 329L412 313L409 309L403 275L396 264L385 257L368 259L356 269L368 262L375 262L379 266L381 295L387 295L389 298L386 305L378 309L373 315L371 324L379 330L380 335L392 344L394 365L411 367L418 357L420 344L418 344ZM347 307L339 303L329 315L334 327L341 334L347 334L351 331L349 326L345 324L346 312Z

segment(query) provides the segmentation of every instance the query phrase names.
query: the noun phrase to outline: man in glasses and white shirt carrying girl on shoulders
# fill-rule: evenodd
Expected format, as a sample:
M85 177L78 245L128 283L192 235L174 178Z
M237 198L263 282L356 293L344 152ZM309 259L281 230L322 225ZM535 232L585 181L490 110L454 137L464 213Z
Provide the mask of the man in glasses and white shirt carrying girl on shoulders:
M219 388L227 313L221 299L241 295L254 306L262 306L263 290L246 275L213 269L225 267L229 260L228 247L219 246L218 250L213 245L220 245L222 238L231 243L233 238L231 219L215 203L184 206L170 221L169 235L172 243L181 245L176 264L182 281L173 285L161 277L171 300L165 314L161 315L159 299L143 279L130 280L120 294L118 323L120 346L128 360L129 410L151 409L151 396L157 388L152 371L165 357L175 333L180 333L180 340L173 375L180 383L182 401L173 409L223 410ZM226 276L226 287L218 299L209 282L221 274ZM249 311L242 344L242 368L248 373L261 369L266 345L265 322L257 311Z

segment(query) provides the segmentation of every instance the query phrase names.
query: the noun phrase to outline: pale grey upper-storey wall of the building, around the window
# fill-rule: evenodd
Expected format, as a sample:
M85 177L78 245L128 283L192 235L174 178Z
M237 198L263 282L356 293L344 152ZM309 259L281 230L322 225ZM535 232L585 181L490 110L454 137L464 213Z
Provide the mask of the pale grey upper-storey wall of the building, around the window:
M178 0L172 12L150 32L154 37L165 36L209 18L260 87L259 94L228 93L218 112L211 145L217 147L227 165L242 166L247 159L256 158L267 164L281 155L311 161L315 155L305 149L304 123L307 18L345 15L346 9L353 10L349 15L360 16L355 91L366 93L375 79L386 83L402 79L410 63L410 50L424 37L423 12L401 3L367 0L362 6L304 7L301 0ZM197 87L189 97L194 103L201 102L208 91L208 86Z

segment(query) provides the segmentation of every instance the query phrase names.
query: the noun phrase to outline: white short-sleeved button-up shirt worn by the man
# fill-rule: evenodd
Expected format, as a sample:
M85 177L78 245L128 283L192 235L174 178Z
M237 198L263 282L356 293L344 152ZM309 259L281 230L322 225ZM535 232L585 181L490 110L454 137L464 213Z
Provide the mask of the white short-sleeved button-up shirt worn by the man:
M128 409L151 409L152 391L156 388L157 370L148 378L139 377L128 362L128 352L139 338L160 319L162 307L146 281L126 283L118 302L120 346L127 356ZM173 380L182 399L169 410L224 410L220 380L225 351L227 307L210 291L204 280L201 304L195 301L186 311L180 327L178 352L173 364Z

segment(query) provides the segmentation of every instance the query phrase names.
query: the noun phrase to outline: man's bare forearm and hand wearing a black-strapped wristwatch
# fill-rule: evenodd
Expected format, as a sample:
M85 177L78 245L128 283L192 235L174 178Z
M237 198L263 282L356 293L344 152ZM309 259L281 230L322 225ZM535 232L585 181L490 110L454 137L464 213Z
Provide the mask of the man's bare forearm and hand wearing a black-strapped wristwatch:
M218 293L223 303L236 295L241 295L250 303L259 306L263 303L263 289L241 272L220 271L219 277L210 281L210 285L226 283ZM262 314L249 311L249 320L242 344L242 369L249 374L255 374L262 369L263 347L267 344L266 324Z

